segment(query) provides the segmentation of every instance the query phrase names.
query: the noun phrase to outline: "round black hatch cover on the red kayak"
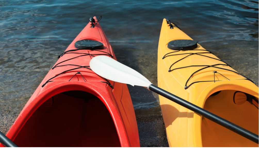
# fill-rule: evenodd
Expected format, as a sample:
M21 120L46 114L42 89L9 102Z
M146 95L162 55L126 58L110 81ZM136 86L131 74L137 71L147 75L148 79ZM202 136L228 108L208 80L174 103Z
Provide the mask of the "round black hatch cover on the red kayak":
M103 49L103 43L95 40L91 40L91 39L82 39L80 41L76 41L75 47L77 49L81 49L83 47L89 47L91 49L100 50L100 49Z

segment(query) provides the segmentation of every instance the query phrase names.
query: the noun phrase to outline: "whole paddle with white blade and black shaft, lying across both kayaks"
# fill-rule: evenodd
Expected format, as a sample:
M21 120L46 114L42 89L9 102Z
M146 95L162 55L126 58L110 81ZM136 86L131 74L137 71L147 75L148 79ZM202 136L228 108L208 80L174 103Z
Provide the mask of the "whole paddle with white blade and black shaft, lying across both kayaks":
M122 63L110 57L99 55L97 57L92 58L90 61L90 68L99 76L102 76L111 81L126 83L132 86L137 85L146 87L148 90L160 94L163 97L171 101L174 101L175 103L178 103L179 105L188 108L194 111L195 113L207 119L210 119L211 121L218 123L219 125L224 126L227 129L232 130L251 141L254 141L255 143L259 142L259 136L257 134L250 132L234 123L227 121L226 119L223 119L203 108L200 108L182 98L177 97L176 95L170 92L167 92L153 85L147 78L145 78L137 71L123 65Z

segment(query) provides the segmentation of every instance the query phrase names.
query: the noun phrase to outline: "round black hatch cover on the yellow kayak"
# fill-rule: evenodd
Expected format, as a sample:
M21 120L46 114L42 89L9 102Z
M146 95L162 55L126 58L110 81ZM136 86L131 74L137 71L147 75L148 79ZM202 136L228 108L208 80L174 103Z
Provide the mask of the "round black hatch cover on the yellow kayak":
M167 47L172 50L192 50L197 47L197 42L190 39L178 39L169 42Z

